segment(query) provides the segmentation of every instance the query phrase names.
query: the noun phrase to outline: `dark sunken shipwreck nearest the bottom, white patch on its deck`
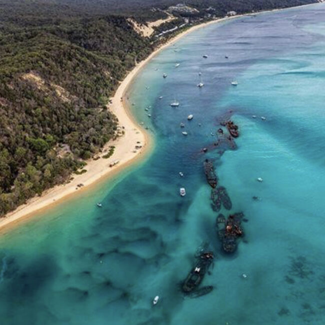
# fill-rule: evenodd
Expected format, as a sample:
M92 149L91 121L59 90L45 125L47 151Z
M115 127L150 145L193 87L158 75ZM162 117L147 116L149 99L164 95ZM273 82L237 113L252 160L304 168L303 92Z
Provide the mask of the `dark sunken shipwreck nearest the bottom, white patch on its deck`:
M211 285L197 288L203 280L212 260L213 253L210 251L203 252L199 255L194 267L190 270L181 286L185 294L188 294L190 297L198 297L212 291L213 287Z

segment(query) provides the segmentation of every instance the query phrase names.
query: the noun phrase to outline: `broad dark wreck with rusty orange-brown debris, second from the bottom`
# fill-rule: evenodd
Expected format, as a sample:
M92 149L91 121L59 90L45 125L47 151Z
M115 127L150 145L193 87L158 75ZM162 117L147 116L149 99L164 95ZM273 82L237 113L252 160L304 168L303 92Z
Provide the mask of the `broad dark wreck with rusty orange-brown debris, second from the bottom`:
M221 241L222 249L226 253L232 253L237 248L238 238L244 235L241 227L241 220L244 214L242 212L230 214L226 219L223 214L216 218L217 234Z

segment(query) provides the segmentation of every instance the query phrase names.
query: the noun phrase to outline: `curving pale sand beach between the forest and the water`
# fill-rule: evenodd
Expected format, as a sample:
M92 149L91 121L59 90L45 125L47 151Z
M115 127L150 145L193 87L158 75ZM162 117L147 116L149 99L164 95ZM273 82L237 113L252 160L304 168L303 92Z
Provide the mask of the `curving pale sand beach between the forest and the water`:
M306 4L304 6L314 4L316 3ZM285 9L292 9L296 7ZM145 64L160 50L167 46L170 46L187 33L192 32L198 28L207 26L211 23L217 23L245 15L259 14L278 10L282 9L265 10L255 13L247 13L203 22L201 24L194 25L184 30L183 32L180 32L175 37L167 41L165 44L154 50L146 59L139 62L126 75L123 81L119 84L114 96L112 97L112 104L109 105L109 109L118 118L119 125L124 126L125 132L123 136L119 137L115 141L109 141L105 145L105 148L108 148L109 145L115 146L115 151L113 155L108 159L100 158L98 160L87 161L87 165L85 166L85 169L87 169L86 173L80 175L72 174L73 180L71 182L67 184L56 185L53 188L44 191L41 196L31 198L27 201L26 204L20 205L14 211L7 213L4 217L0 219L0 229L6 229L8 225L15 225L18 223L18 221L25 220L28 217L35 215L36 212L37 214L44 212L44 209L49 207L50 205L60 203L63 201L63 199L68 199L71 195L77 194L88 189L90 185L96 184L99 180L102 180L103 178L106 179L108 176L115 175L117 172L120 172L133 162L138 161L141 158L143 159L145 156L147 156L147 154L151 151L150 148L153 145L152 137L149 136L149 134L137 124L137 122L129 113L124 100L121 101L120 98L124 98L124 94L127 91L127 88L133 78L145 66ZM135 145L138 144L137 141L140 142L142 148L136 150L136 152L133 152ZM109 163L116 159L119 160L119 163L113 167L109 167ZM82 183L83 186L76 189L77 184L80 183Z

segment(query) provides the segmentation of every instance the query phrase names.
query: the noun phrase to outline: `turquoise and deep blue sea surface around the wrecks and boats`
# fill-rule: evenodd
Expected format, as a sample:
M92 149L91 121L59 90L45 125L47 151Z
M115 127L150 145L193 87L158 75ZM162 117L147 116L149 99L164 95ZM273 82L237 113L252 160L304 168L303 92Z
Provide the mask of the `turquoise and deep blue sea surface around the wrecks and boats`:
M1 235L0 324L323 325L323 21L325 3L240 17L155 56L127 93L154 136L152 153ZM236 149L213 145L228 116L239 126ZM231 212L248 219L232 255L216 236L206 157ZM214 288L190 298L181 282L204 245L215 258L201 285Z

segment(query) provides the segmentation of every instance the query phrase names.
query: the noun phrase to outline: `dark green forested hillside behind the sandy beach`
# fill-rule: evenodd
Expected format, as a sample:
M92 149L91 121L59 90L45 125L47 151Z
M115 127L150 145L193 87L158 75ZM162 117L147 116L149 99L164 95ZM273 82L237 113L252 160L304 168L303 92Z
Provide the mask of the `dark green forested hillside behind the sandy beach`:
M314 0L189 0L206 17ZM152 51L134 31L175 0L0 0L0 215L61 183L116 136L108 97ZM174 13L180 23L181 13ZM195 23L195 17L191 21ZM156 28L161 31L162 27Z

